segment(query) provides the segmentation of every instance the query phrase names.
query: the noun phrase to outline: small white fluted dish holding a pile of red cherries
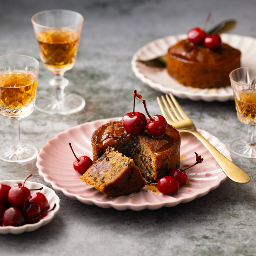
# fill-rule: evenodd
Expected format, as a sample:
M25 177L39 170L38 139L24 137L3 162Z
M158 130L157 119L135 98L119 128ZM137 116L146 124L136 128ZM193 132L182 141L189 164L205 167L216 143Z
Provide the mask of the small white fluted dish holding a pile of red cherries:
M23 183L23 182L24 182L24 180L3 180L3 181L0 181L0 184L6 184L9 186L12 186L15 183ZM0 234L8 234L8 233L20 234L23 232L31 232L31 231L37 230L39 227L44 226L44 225L48 224L50 221L52 221L52 219L54 218L54 216L57 214L58 210L60 209L60 199L58 198L58 195L56 195L56 193L52 189L48 188L47 186L44 186L41 183L32 182L29 180L26 180L25 186L28 189L39 189L39 188L43 187L43 189L40 192L46 196L46 198L50 204L50 209L52 209L54 204L56 204L55 209L53 211L48 212L47 216L42 218L37 223L25 224L20 227L12 227L12 226L0 227ZM38 191L31 191L31 195L34 195L36 192L38 192Z

